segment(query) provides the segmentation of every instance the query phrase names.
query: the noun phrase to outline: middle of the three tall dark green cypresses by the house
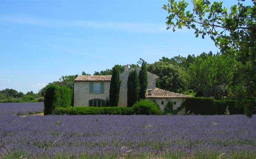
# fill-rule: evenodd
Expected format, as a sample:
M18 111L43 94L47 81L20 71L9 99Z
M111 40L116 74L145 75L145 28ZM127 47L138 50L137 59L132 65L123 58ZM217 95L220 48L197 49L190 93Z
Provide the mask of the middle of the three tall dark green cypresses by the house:
M127 81L127 107L132 107L138 101L139 95L139 78L136 71L131 71Z

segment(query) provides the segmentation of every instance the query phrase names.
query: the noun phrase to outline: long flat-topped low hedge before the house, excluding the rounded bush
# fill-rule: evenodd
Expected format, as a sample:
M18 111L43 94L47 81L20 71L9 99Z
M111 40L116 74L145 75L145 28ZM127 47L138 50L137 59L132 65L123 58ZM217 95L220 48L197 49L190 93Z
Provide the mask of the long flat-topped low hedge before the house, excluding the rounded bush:
M132 107L56 107L54 115L132 115Z

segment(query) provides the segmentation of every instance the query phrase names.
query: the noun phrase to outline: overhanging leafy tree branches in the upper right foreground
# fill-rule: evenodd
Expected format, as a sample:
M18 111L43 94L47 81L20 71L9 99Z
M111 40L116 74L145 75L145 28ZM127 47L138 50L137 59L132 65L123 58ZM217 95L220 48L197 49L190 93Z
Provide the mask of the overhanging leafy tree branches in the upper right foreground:
M221 54L231 55L240 62L243 66L239 67L240 75L236 73L230 92L236 99L242 96L245 101L255 101L256 1L252 0L252 5L248 6L241 1L244 0L238 0L229 11L222 6L223 2L211 3L210 0L193 0L193 10L187 9L188 3L184 0L169 0L163 9L169 14L167 29L175 31L186 27L195 30L196 37L210 36Z

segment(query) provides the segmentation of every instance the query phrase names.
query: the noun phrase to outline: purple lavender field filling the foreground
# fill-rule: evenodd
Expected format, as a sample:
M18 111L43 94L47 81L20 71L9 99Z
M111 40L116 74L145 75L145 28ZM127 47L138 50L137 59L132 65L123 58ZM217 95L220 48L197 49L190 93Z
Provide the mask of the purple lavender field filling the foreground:
M255 159L256 116L48 115L0 103L0 158Z

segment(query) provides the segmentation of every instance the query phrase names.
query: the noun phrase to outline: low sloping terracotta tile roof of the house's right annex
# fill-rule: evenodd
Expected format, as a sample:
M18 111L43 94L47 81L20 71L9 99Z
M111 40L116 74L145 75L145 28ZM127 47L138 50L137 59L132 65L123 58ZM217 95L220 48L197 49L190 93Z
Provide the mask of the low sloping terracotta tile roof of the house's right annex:
M152 91L151 95L148 95L148 90ZM148 88L146 91L146 98L180 98L180 97L193 97L193 96L174 93L171 91L165 91L160 88Z

